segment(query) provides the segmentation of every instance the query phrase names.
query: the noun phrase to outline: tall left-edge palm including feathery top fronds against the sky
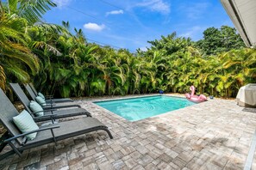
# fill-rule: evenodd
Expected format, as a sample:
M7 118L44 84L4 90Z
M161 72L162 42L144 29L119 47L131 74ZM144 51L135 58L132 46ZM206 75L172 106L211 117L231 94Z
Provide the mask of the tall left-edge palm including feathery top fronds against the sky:
M29 48L27 31L53 6L56 5L51 0L9 0L4 5L0 1L1 88L5 88L6 76L8 80L28 82L30 75L39 71L39 60Z

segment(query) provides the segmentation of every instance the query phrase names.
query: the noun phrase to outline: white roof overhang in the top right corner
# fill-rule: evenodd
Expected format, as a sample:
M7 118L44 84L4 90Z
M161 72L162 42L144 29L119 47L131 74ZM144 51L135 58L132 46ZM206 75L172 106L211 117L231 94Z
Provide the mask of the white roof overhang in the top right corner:
M248 47L256 46L256 0L221 0Z

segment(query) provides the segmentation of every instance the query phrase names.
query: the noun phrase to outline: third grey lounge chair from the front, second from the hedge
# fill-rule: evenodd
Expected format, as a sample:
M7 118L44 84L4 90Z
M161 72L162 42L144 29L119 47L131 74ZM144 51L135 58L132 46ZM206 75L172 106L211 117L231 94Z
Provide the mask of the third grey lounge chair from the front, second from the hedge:
M20 100L23 100L24 98L28 98L27 95L23 92L21 86L18 83L9 83L10 88L13 89L13 91L16 93L16 95L18 96L18 98ZM35 96L36 97L36 96ZM32 98L34 101L35 98ZM28 103L29 104L29 103ZM54 104L54 103L50 103L47 104L45 106L42 106L44 109L59 109L59 108L68 108L68 107L81 107L80 105L76 105L76 104Z

